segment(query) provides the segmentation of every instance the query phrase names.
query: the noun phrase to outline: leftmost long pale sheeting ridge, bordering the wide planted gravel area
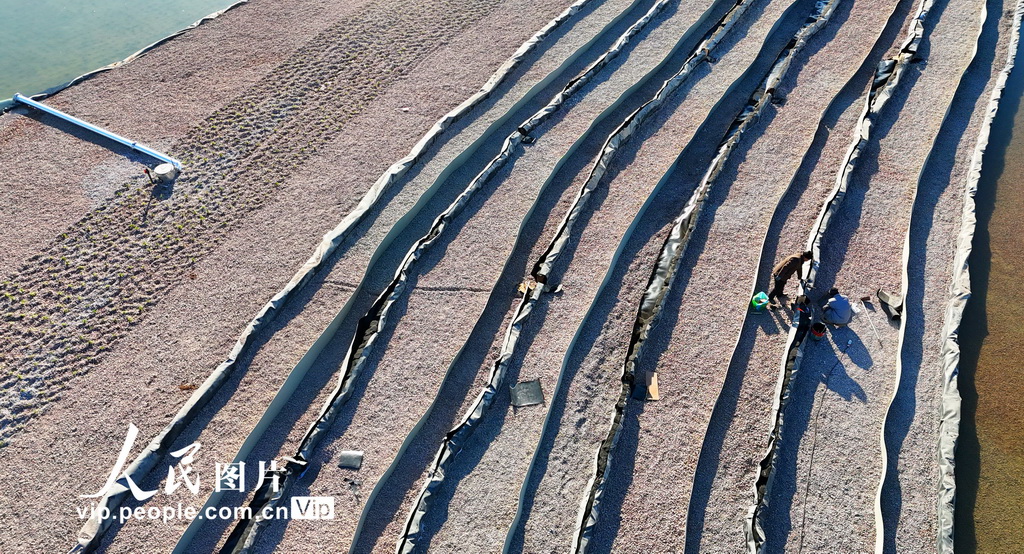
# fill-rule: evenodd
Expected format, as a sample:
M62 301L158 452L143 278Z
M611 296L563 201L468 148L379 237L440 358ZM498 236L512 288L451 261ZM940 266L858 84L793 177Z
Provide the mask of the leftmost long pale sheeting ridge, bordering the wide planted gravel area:
M248 0L243 0L238 2L227 9L231 9L234 6L246 3L247 1ZM427 133L420 139L419 142L416 143L416 145L404 158L391 165L391 167L389 167L387 171L385 171L377 179L373 186L371 186L360 199L358 205L356 205L356 207L349 214L347 214L334 229L324 236L324 239L313 251L313 254L299 268L295 275L292 276L291 281L289 281L289 283L281 291L279 291L278 294L275 294L265 305L263 305L263 307L260 308L256 315L249 322L237 339L227 355L227 358L217 366L217 368L204 381L203 385L196 389L193 395L188 398L188 401L186 401L185 404L178 410L171 422L168 423L160 434L151 440L146 449L139 454L130 466L128 466L125 470L127 475L131 476L131 478L136 482L140 482L140 480L153 470L157 462L159 462L160 459L167 454L171 444L178 437L178 435L185 429L185 427L187 427L200 411L202 411L210 402L219 390L220 386L227 380L236 369L238 360L249 353L256 334L268 327L273 318L284 309L288 301L301 291L302 288L316 274L316 272L324 267L327 260L331 257L335 250L345 241L345 239L348 238L350 231L364 220L366 215L377 205L378 201L392 186L400 181L410 168L424 158L427 151L440 139L449 128L466 116L477 104L489 97L490 94L497 90L499 85L509 75L511 75L512 72L515 71L523 59L525 59L527 54L536 49L537 46L550 36L557 28L564 25L565 22L569 20L581 9L583 9L586 4L593 1L595 0L579 0L562 11L554 19L549 22L522 45L520 45L515 53L513 53L513 55L490 76L479 91L474 93L434 123L433 127L427 131ZM200 22L197 22L191 27L196 27L205 20L216 17L227 9L200 19ZM135 59L142 53L159 46L160 44L163 44L183 32L184 31L176 33L171 37L154 43L136 54L133 54L129 58L126 58L125 61L110 66L102 70L97 70L97 72L94 73L108 71ZM88 74L88 77L91 76L92 74ZM85 76L83 77L85 78ZM84 80L84 78L79 78L70 83L68 86L80 82L81 80ZM48 94L52 92L49 92ZM39 97L45 97L45 95L35 96L35 98ZM418 203L418 206L422 204L424 204L423 200ZM416 208L414 208L414 210ZM121 478L117 481L114 489L99 500L97 506L104 506L110 509L110 513L116 513L118 506L121 505L128 495L129 491L127 487L127 481L124 478ZM84 551L90 551L99 544L103 534L113 522L112 518L103 519L99 517L100 512L101 510L93 512L93 516L86 521L86 523L79 530L78 546L73 550L81 549ZM189 526L189 528L191 526Z

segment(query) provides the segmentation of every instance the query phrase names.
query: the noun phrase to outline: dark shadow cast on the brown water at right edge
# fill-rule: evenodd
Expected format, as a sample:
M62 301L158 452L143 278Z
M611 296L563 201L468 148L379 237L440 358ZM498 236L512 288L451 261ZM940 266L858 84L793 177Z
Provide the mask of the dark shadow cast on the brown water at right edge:
M991 13L991 12L989 12ZM1021 49L1017 52L1018 62ZM975 229L971 252L971 299L964 309L959 327L959 393L961 424L956 441L956 500L953 512L953 542L956 552L977 551L974 510L978 501L978 486L981 475L981 443L978 441L978 389L975 375L981 346L988 336L987 299L991 275L992 250L989 224L995 209L997 184L1006 169L1006 157L1014 137L1014 124L1020 113L1024 95L1024 72L1015 68L1010 73L1007 88L1002 92L999 112L992 122L988 148L985 152L975 198L977 228ZM1018 129L1019 131L1019 129Z

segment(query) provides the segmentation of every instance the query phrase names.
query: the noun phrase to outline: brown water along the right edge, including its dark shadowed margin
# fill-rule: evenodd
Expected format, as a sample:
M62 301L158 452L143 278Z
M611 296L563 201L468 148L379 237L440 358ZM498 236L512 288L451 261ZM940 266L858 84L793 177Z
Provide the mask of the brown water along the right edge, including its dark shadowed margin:
M1024 552L1024 49L1017 62L979 183L973 296L961 334L958 554Z

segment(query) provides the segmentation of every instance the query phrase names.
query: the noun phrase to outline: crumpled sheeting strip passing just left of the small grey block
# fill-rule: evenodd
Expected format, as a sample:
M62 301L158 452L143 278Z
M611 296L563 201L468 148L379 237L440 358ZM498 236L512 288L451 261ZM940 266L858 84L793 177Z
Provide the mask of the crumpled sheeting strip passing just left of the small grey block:
M337 387L325 402L316 421L313 422L309 430L303 436L295 456L287 459L287 465L285 468L275 472L280 477L281 486L279 491L273 493L269 492L269 483L273 480L272 477L274 476L274 472L268 470L266 472L265 479L267 484L256 493L250 505L252 513L260 515L252 519L242 520L237 524L234 530L231 532L231 536L228 538L227 544L224 546L223 550L225 552L243 553L251 551L251 549L255 546L259 529L264 526L267 521L261 517L262 513L264 513L264 509L269 507L272 513L273 508L285 497L288 487L304 472L304 468L308 463L308 460L311 458L312 453L318 445L319 440L323 438L323 435L328 432L342 406L351 396L353 382L358 377L362 366L369 358L371 349L380 335L381 330L387 323L388 311L393 304L398 301L404 291L413 265L415 265L415 263L423 257L425 252L438 241L439 237L443 235L444 229L447 227L449 222L462 212L473 195L482 188L484 183L486 183L492 176L500 171L501 168L503 168L505 164L513 158L518 147L522 144L523 138L525 138L532 130L540 127L554 113L556 113L566 102L566 100L590 83L594 76L600 73L600 71L604 69L611 61L611 59L617 56L626 45L630 43L632 38L636 36L636 34L639 33L640 30L643 29L643 27L646 26L646 24L653 17L653 15L657 11L660 11L660 9L664 8L669 1L670 0L662 0L658 4L652 7L651 11L645 14L641 19L637 20L626 33L624 33L623 36L620 37L610 48L608 48L604 55L594 61L580 76L570 80L562 91L556 94L547 105L539 110L534 116L524 121L515 132L510 134L505 139L504 146L498 156L496 156L490 163L487 164L487 166L473 178L466 189L463 190L463 193L452 203L452 205L450 205L444 212L437 216L427 233L413 245L409 253L403 258L402 263L395 271L394 279L387 286L387 288L385 288L384 292L380 294L367 314L359 319L352 344L349 347L348 354L345 356L344 367L341 370Z

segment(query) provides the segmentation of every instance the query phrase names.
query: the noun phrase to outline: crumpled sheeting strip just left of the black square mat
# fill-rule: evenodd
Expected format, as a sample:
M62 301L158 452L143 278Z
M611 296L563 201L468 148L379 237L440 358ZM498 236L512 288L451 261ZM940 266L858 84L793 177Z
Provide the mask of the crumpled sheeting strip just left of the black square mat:
M700 23L706 20L706 18L718 7L718 5L719 4L716 3L708 9L700 20L697 24L694 24L694 26L691 26L691 29L698 27ZM732 20L730 16L734 15L738 17L739 13L744 11L748 5L749 0L738 2L732 9L730 9L726 16L717 24L715 29L721 29L723 20L728 23L725 31L731 29ZM738 11L737 8L739 8ZM721 35L719 35L719 38L721 38ZM683 42L684 39L685 37L677 42L677 47L681 42ZM439 488L443 483L444 473L451 466L451 463L454 461L456 455L461 452L466 440L468 440L469 436L479 425L483 416L493 404L494 399L504 382L505 374L508 371L508 366L511 363L515 346L518 343L519 333L521 332L522 326L528 318L529 313L531 313L534 305L540 298L540 295L548 290L547 282L551 271L553 270L555 260L560 256L562 250L566 246L568 238L571 235L572 224L579 219L580 215L582 215L594 188L598 186L601 178L607 171L612 157L617 153L618 147L633 134L633 132L635 132L637 128L639 128L643 121L657 108L659 108L669 95L681 86L683 81L685 81L685 79L690 75L696 65L701 59L707 57L708 53L712 48L714 48L717 42L718 41L716 40L714 43L709 43L707 39L702 41L687 58L683 69L677 72L673 78L666 81L654 97L635 110L622 124L616 127L614 131L608 135L608 138L605 139L601 148L601 156L592 168L591 173L588 175L587 180L581 187L580 193L577 195L575 201L566 211L566 215L559 225L558 230L554 233L554 238L548 244L544 254L541 255L537 263L534 265L534 269L531 271L532 281L524 290L523 298L520 300L519 306L513 315L512 325L506 332L499 357L496 360L495 366L492 368L487 384L477 395L476 400L467 411L460 424L449 431L442 439L441 446L438 449L437 455L430 466L430 478L424 483L420 496L411 510L409 518L407 519L402 537L399 539L396 547L397 552L406 553L415 551L417 546L416 541L422 534L422 520L429 511L432 497L436 493L437 488ZM653 70L648 72L643 79L624 93L620 100L616 101L614 105L606 110L599 117L599 119L603 119L610 114L614 108L617 108L617 105L622 103L625 97L629 96L633 91L638 89L640 85L646 83L650 77L657 73L668 62L669 58L674 55L675 50L676 48L674 48L673 51L670 52L669 55L667 55ZM577 143L581 140L582 138L577 140ZM570 154L571 151L569 155ZM557 172L557 169L555 172ZM552 175L554 175L555 172L553 172ZM517 514L519 512L517 511ZM513 528L514 525L515 524L513 523ZM510 536L506 538L506 551L509 547L509 540Z

